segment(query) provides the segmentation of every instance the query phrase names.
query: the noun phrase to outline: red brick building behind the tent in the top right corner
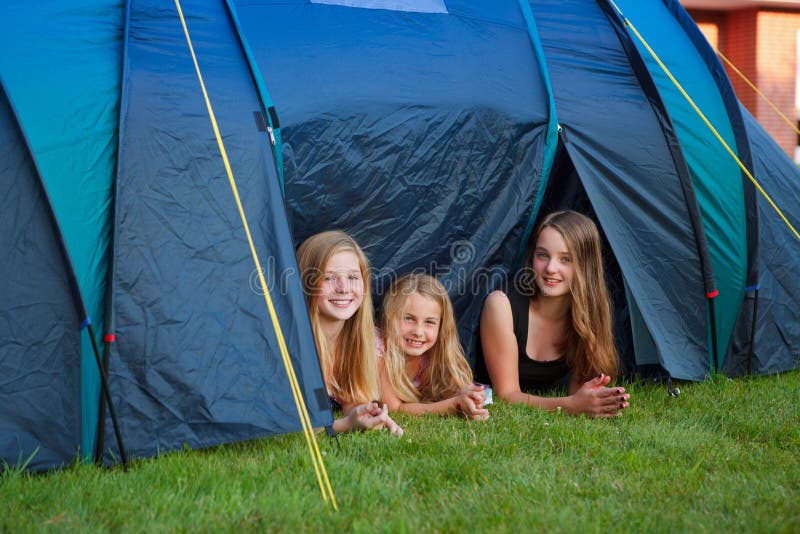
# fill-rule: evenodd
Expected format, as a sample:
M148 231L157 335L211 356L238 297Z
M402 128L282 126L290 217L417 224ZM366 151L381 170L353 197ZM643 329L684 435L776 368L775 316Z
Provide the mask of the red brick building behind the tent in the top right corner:
M681 0L720 50L789 119L800 118L800 1ZM797 132L728 69L739 100L780 146L800 162Z

